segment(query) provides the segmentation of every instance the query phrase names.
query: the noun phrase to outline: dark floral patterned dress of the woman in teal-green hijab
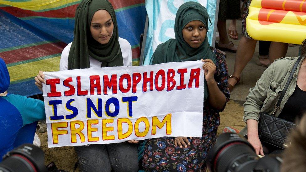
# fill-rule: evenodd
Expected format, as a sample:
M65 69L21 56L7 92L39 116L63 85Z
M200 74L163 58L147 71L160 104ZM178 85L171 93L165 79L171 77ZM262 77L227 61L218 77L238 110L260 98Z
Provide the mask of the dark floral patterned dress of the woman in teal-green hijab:
M217 69L214 78L219 89L226 96L226 102L228 102L229 91L227 89L227 80L229 76L224 55L212 47L211 50L213 50L217 57ZM190 146L187 148L175 146L174 137L148 139L142 159L145 171L192 172L199 171L203 164L202 168L205 171L206 156L216 141L217 128L220 124L219 112L221 111L212 108L208 100L204 102L203 137L189 138Z

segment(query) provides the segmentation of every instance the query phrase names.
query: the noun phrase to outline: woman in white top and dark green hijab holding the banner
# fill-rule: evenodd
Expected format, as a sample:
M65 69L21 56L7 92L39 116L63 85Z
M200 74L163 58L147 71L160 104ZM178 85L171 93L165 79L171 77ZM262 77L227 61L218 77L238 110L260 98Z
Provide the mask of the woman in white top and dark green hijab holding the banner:
M131 45L119 38L108 0L83 0L76 10L74 39L61 54L60 70L132 65ZM41 89L42 71L35 77ZM82 171L137 171L134 141L75 146Z

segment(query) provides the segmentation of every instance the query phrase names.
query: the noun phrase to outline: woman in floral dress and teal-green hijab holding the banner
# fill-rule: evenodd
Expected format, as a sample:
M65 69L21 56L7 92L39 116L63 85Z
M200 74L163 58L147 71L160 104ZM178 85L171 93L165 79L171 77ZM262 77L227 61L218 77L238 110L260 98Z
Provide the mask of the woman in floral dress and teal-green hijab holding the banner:
M148 139L142 160L146 171L199 171L206 167L206 155L215 143L220 124L219 112L229 101L227 66L224 55L208 43L208 22L210 18L206 8L196 2L184 3L176 14L175 39L158 45L151 59L151 64L205 62L203 137Z

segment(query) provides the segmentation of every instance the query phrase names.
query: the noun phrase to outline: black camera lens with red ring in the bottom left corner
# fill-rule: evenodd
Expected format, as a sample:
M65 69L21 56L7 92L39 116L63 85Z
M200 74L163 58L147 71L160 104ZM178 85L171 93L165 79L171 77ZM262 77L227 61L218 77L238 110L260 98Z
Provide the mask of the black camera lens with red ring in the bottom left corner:
M0 171L3 172L44 172L44 152L32 145L24 144L8 152L0 163Z

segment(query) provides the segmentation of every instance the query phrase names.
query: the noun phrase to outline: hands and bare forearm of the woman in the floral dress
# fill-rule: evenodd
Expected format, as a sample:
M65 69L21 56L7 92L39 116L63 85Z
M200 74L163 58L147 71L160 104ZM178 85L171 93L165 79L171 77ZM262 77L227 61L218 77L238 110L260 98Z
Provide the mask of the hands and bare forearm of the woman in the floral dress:
M208 102L214 109L221 110L226 103L226 97L219 89L217 82L214 79L217 67L210 59L201 60L202 62L205 62L202 68L204 70L204 76L208 87ZM190 139L192 139L192 137ZM190 142L187 137L176 137L174 139L174 145L179 146L180 148L187 148L187 145L190 146Z

